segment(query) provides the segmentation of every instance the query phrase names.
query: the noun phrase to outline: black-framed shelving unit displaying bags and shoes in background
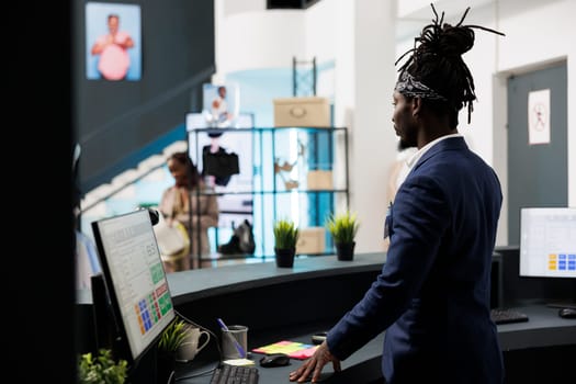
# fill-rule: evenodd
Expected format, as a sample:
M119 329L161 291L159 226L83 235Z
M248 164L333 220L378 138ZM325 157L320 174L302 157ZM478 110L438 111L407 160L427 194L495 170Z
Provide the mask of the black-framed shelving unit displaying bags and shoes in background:
M213 255L212 259L271 258L275 219L290 217L306 230L324 227L328 214L348 208L347 127L194 128L188 133L189 153L201 171L202 148L214 145L208 135L215 133L222 134L217 138L222 148L238 155L240 173L227 185L204 192L216 194L221 206L221 224L213 233L212 247L216 250L227 242L233 226L245 218L252 224L257 247L253 255ZM316 173L324 182L309 180L310 171L319 171ZM324 250L306 255L332 255L328 233L324 242Z

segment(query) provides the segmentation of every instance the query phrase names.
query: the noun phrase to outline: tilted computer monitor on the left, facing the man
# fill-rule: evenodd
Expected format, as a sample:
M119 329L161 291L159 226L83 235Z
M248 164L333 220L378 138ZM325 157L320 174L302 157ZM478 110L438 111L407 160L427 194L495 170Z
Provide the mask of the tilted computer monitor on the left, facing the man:
M92 222L122 358L138 361L176 317L148 210ZM102 305L102 303L94 303Z

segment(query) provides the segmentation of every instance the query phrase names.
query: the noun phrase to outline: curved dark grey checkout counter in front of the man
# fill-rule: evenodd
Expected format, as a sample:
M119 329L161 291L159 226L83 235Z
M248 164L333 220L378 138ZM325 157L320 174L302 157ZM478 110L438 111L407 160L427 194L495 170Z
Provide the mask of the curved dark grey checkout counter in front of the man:
M500 259L494 272L501 278ZM312 343L312 335L326 330L351 308L369 289L385 262L385 253L355 255L353 261L335 256L296 258L293 268L273 261L199 269L171 273L168 282L177 310L221 337L216 318L245 325L248 349L280 340ZM501 279L494 279L501 282ZM495 291L499 291L497 284ZM495 300L501 297L495 292ZM530 320L498 326L507 370L506 383L576 382L572 368L576 355L576 319L561 318L545 304L518 307ZM384 334L342 361L342 372L326 383L374 383L381 380ZM292 360L281 368L260 368L252 359L261 384L290 383L289 373L301 364ZM180 364L177 383L210 383L219 354L213 338L196 358ZM325 368L331 373L331 364ZM180 377L180 379L178 379Z

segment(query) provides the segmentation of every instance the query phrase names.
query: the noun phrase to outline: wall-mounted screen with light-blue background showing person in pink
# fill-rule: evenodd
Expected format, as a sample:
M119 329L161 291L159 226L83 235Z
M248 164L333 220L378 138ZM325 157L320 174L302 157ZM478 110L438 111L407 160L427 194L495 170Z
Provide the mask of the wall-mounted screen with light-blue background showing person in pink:
M139 5L86 3L86 77L110 81L140 79Z

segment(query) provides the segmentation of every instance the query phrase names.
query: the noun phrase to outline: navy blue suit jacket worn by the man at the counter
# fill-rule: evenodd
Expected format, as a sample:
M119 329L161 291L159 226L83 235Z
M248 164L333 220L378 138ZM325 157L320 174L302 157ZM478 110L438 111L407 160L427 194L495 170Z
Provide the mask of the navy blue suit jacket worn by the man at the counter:
M489 317L490 266L501 207L494 170L462 137L433 145L415 165L386 218L382 272L329 331L348 358L383 330L387 383L501 383Z

